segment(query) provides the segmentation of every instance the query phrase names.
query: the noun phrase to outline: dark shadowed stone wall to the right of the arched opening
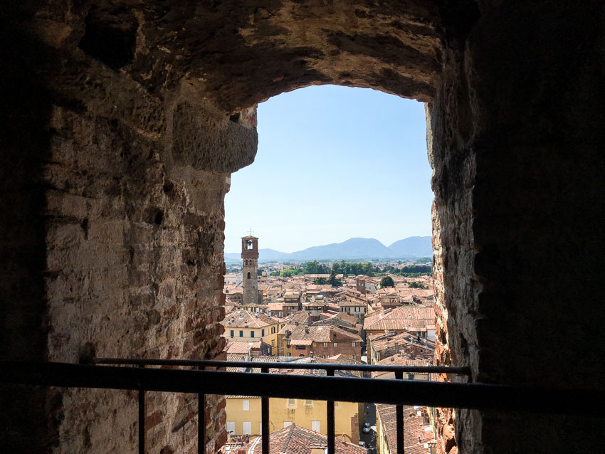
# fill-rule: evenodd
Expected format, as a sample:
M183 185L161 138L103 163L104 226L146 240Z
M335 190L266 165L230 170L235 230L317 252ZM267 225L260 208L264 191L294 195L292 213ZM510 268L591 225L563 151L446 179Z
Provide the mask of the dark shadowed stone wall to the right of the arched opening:
M590 340L605 334L592 304L603 296L602 6L479 2L468 17L446 37L430 109L438 362L470 366L473 381L602 389ZM444 451L452 421L446 411ZM456 411L456 442L589 452L602 424Z

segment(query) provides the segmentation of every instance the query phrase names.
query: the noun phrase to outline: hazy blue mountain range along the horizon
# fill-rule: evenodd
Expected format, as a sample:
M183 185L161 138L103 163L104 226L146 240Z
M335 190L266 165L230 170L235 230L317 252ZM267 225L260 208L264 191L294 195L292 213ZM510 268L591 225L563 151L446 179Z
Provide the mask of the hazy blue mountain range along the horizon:
M293 253L280 252L274 249L259 249L259 262L307 262L310 260L372 260L430 257L433 246L430 236L410 236L395 241L386 247L374 238L350 238L343 243L332 243L325 246L312 246ZM240 253L225 254L226 263L238 263Z

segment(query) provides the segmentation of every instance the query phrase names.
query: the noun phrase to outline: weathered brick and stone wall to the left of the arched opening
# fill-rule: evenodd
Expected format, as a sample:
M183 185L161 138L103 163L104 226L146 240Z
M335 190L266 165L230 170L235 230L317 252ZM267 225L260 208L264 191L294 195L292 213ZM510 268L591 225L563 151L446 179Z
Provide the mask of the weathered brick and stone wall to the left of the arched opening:
M223 199L256 153L256 107L230 120L187 83L143 88L83 44L90 14L48 6L8 42L1 357L214 358ZM134 393L3 391L11 452L136 452ZM223 408L209 396L209 453ZM196 398L149 393L145 426L148 452L196 452Z

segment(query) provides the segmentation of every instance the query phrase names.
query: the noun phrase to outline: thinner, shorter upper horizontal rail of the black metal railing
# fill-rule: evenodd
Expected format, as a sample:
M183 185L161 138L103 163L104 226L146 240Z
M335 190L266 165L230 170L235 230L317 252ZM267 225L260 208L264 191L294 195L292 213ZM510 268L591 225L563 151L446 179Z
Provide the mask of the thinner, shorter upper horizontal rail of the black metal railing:
M120 364L139 366L206 366L206 367L268 367L270 369L320 369L327 371L368 371L368 372L410 372L425 374L470 375L468 367L453 366L384 366L382 364L337 364L337 363L295 363L295 362L253 362L253 361L214 361L196 359L122 359L97 358L96 364Z

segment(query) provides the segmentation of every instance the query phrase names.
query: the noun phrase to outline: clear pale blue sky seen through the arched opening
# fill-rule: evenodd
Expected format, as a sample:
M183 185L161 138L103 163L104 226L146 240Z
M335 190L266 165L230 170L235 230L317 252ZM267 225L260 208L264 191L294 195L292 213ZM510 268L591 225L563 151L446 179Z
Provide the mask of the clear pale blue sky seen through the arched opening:
M421 102L322 85L258 105L258 153L231 176L225 251L252 227L259 248L293 252L349 238L389 246L431 235Z

